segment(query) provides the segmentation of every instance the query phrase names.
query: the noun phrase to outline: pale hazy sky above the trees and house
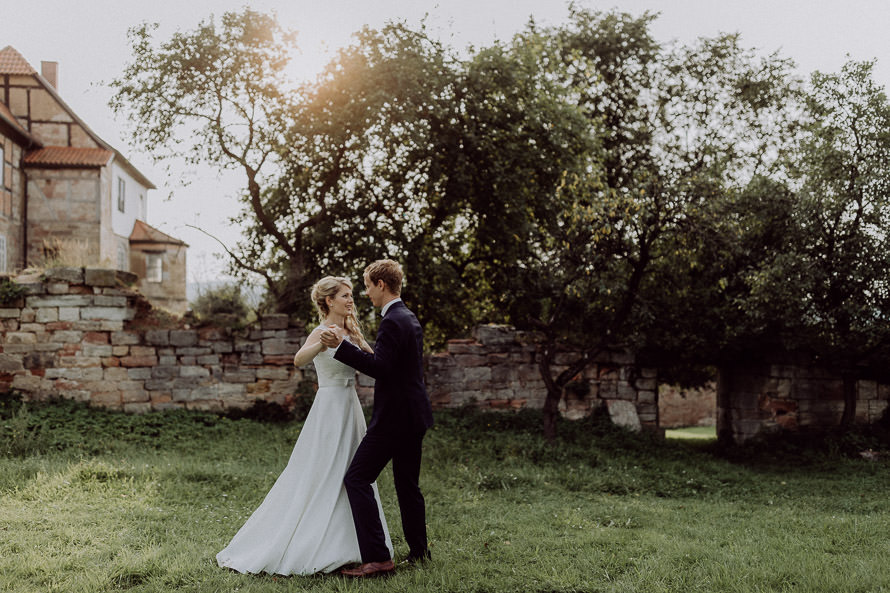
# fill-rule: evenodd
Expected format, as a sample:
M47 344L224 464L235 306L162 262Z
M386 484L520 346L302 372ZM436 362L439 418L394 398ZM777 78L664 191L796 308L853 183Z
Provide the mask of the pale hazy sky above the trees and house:
M890 86L890 0L579 0L583 7L661 16L652 31L659 41L691 41L697 37L738 32L744 46L763 53L780 51L797 62L802 76L814 70L837 71L849 57L877 58L876 75ZM146 155L123 137L122 121L108 107L105 83L123 70L130 58L127 29L143 21L158 22L159 39L190 30L211 14L248 5L274 10L279 22L298 31L302 54L295 73L310 79L334 49L346 45L363 25L387 20L427 26L439 39L457 48L508 39L530 16L542 25L566 19L562 0L0 0L0 48L12 45L31 65L59 63L59 92L71 108L106 142L127 155L151 179L148 223L191 245L189 281L215 279L225 267L222 250L186 224L206 228L234 242L239 231L227 223L238 211L235 195L240 178L218 178L210 170L168 178ZM168 195L172 197L166 199Z

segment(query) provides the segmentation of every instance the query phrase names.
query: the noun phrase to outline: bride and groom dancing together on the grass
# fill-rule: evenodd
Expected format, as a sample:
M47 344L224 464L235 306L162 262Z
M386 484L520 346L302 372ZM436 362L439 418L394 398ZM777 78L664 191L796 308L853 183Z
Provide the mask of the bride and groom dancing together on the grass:
M312 288L321 325L294 356L314 361L318 392L290 461L262 504L216 559L242 573L340 572L367 577L394 570L393 546L376 479L392 460L402 528L415 563L430 557L418 485L423 435L433 417L423 383L423 334L399 298L402 269L379 260L365 269L368 297L383 320L372 349L361 333L346 278ZM376 380L365 417L355 371Z

